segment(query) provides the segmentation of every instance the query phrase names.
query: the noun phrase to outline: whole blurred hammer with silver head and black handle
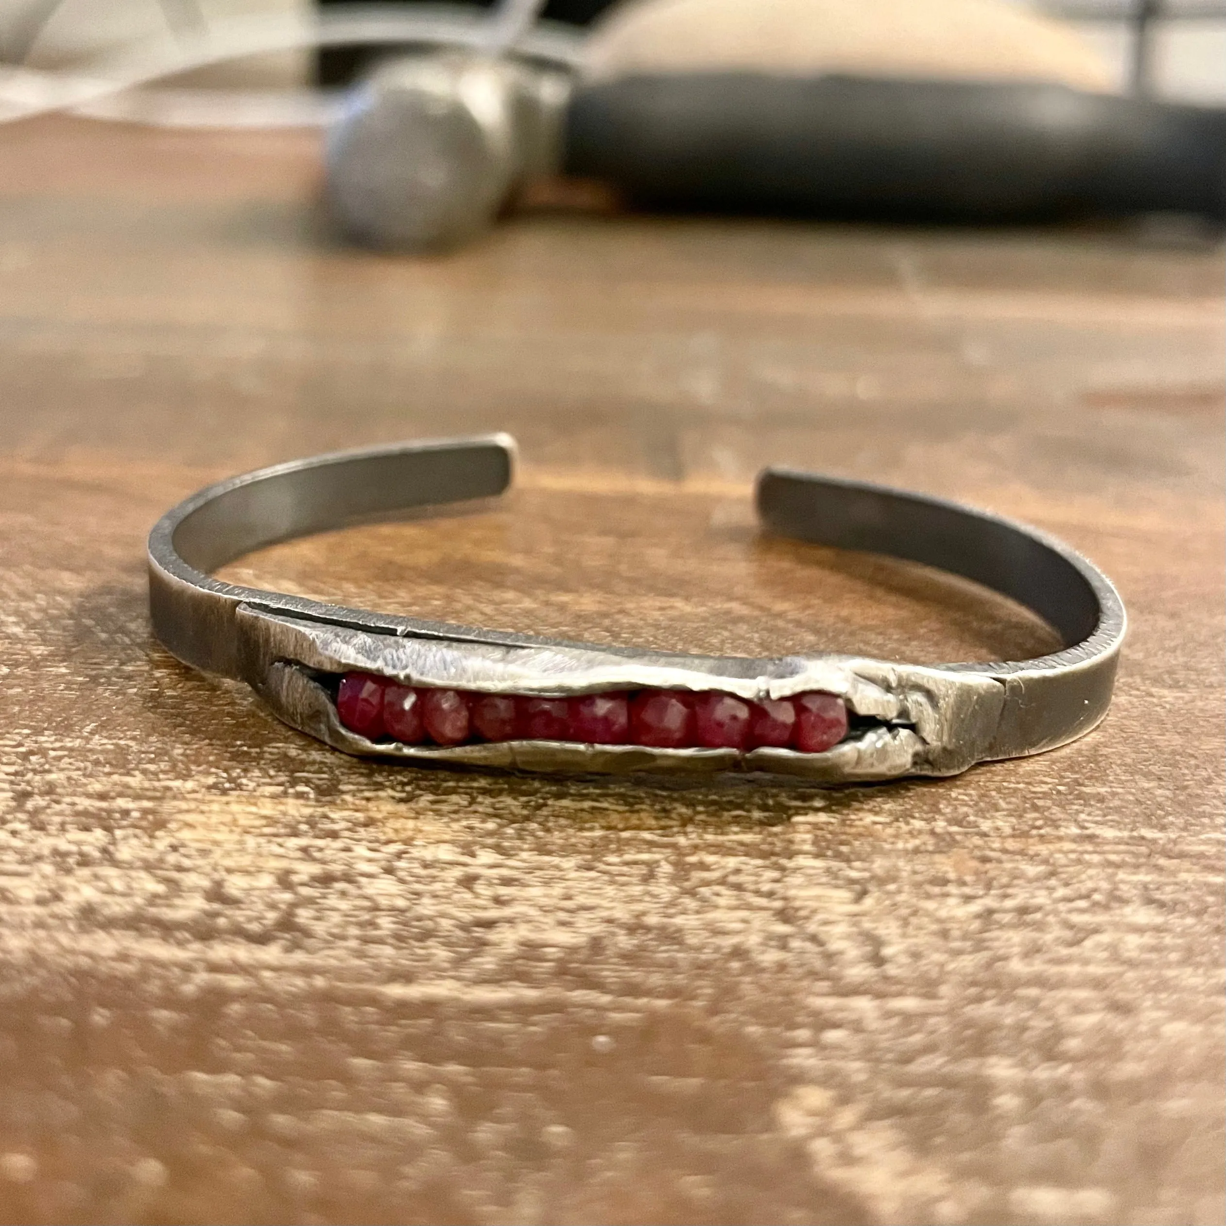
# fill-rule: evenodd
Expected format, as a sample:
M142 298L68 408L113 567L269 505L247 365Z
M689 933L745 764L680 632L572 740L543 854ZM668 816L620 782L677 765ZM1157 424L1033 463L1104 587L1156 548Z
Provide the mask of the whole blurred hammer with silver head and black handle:
M327 142L356 239L454 245L535 175L651 208L993 222L1226 219L1226 110L1029 82L690 72L585 83L445 51L359 85Z

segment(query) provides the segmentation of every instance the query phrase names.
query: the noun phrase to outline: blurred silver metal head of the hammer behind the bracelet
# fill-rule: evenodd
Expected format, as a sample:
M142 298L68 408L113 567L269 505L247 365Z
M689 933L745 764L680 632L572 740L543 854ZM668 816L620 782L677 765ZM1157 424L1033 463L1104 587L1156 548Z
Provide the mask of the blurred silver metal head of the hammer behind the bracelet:
M519 183L557 166L569 88L557 69L473 53L384 63L329 132L332 211L369 246L459 245Z

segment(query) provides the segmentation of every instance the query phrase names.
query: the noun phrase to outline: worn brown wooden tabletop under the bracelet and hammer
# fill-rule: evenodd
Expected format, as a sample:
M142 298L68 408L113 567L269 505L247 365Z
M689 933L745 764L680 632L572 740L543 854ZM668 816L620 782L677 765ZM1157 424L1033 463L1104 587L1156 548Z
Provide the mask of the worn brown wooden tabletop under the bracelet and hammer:
M346 250L305 135L0 130L0 1221L1222 1221L1222 260L541 212ZM248 580L706 651L1045 650L760 539L769 461L1049 528L1085 741L815 790L400 770L150 638L200 484L509 429L505 509Z

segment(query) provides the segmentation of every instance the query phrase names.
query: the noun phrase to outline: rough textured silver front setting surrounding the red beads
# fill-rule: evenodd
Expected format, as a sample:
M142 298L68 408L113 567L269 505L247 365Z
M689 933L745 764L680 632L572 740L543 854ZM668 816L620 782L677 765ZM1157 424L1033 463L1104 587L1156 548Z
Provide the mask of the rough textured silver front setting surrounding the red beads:
M349 626L299 622L244 607L246 676L288 725L360 756L463 763L536 771L705 774L760 770L829 782L953 775L991 743L1003 685L972 673L883 666L842 656L736 660L642 652L634 657L585 647L508 647L392 638ZM745 699L821 689L857 715L883 721L821 754L788 749L653 749L520 741L450 748L371 742L345 728L327 691L303 671L363 669L414 685L492 694L584 694L614 688L718 690Z

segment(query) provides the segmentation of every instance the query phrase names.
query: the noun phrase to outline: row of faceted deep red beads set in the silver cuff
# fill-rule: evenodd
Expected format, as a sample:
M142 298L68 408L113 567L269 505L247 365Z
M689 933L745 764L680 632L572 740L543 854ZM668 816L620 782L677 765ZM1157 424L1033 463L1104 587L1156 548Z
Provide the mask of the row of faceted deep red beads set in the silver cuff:
M732 694L638 690L530 698L401 685L374 673L346 673L341 723L370 741L403 744L470 741L577 741L655 749L758 749L819 754L847 734L847 707L834 694L748 702Z

